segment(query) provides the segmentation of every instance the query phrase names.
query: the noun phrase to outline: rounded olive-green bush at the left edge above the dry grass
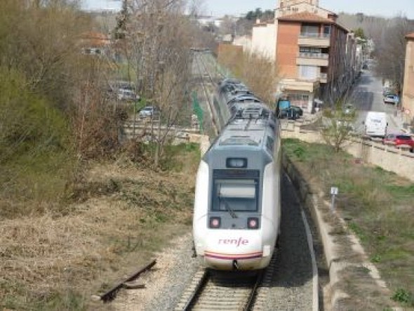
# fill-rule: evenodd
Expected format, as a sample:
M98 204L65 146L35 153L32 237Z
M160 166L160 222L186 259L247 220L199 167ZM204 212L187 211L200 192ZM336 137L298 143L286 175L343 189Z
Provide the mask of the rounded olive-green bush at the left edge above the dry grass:
M0 110L1 215L56 206L76 163L65 117L29 91L22 74L5 68L0 68Z

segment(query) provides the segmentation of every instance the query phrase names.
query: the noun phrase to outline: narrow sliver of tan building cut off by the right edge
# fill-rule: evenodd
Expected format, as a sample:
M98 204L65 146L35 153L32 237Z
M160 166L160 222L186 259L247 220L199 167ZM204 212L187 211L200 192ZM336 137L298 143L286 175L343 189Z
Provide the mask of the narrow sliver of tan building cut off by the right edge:
M406 35L406 65L404 70L403 98L404 122L414 122L414 32Z

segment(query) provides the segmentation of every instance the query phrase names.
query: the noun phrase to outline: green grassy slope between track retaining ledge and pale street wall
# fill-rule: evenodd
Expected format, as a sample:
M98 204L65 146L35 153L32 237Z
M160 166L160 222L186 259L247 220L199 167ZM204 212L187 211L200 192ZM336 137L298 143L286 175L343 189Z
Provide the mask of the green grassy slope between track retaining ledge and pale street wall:
M329 200L339 188L338 209L380 270L393 299L412 305L414 292L414 183L380 167L363 166L327 145L283 140L283 150L300 170L317 178ZM396 286L403 286L403 290Z

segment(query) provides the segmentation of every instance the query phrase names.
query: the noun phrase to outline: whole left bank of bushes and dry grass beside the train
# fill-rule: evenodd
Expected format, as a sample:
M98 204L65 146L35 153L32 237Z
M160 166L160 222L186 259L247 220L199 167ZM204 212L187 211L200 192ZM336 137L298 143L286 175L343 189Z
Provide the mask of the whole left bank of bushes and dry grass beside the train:
M0 6L0 309L99 310L102 293L188 231L197 145L121 144L116 65L66 0ZM162 234L161 234L162 232Z

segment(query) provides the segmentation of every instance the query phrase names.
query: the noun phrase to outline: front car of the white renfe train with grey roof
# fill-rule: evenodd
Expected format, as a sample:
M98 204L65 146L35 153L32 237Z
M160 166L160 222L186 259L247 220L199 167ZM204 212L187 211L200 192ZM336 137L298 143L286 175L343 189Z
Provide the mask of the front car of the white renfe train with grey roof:
M279 130L264 105L240 110L201 160L193 237L197 256L216 270L269 264L280 224Z

